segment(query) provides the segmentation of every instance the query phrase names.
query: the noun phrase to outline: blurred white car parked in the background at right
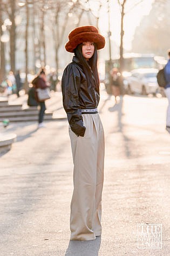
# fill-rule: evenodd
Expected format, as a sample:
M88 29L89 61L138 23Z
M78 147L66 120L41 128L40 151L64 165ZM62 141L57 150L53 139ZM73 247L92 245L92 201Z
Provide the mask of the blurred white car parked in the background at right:
M124 82L127 94L138 93L142 95L156 94L159 91L157 83L158 69L134 69Z

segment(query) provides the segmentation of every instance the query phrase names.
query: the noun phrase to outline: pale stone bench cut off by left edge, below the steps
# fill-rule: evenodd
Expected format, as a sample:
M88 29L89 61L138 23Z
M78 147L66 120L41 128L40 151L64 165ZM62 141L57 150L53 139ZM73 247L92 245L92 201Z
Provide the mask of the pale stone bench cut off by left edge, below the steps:
M17 135L14 133L0 133L0 155L8 152L11 145L16 141Z

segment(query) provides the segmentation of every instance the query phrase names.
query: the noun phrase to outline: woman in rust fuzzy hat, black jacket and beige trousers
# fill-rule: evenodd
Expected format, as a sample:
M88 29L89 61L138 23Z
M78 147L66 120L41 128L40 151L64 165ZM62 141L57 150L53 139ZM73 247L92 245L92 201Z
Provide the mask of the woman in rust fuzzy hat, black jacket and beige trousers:
M67 51L74 52L62 77L63 106L70 124L74 163L71 240L93 240L101 235L104 130L97 109L97 50L104 46L104 37L93 26L72 30L65 45Z

